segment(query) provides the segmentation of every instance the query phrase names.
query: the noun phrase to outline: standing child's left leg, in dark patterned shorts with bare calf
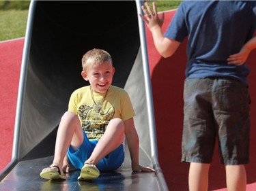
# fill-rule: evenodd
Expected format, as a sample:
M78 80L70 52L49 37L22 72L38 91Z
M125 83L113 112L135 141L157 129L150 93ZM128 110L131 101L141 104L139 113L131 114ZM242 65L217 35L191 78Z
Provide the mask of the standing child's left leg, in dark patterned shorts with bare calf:
M212 114L211 79L189 79L184 84L182 162L190 162L190 191L208 190L208 171L216 140Z

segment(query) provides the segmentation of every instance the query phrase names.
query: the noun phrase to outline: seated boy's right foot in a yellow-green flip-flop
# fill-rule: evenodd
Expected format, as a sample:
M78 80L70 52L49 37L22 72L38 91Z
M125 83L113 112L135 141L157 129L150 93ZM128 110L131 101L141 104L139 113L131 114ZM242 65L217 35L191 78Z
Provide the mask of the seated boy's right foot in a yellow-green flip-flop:
M100 175L100 171L97 169L96 166L92 164L83 165L81 169L81 175L78 177L79 180L93 180L98 178Z

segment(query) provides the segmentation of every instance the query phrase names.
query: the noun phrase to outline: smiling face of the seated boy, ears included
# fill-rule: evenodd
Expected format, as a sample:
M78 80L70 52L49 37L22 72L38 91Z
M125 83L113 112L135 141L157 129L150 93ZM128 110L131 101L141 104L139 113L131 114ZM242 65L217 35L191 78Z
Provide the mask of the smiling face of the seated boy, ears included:
M83 79L89 81L94 92L104 93L112 84L115 68L111 62L104 62L101 65L94 64L82 71Z

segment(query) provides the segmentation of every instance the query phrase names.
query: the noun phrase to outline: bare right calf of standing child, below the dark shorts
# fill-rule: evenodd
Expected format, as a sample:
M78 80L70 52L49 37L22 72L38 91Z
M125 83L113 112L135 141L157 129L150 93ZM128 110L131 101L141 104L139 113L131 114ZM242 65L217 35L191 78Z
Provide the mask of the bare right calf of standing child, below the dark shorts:
M227 190L245 191L246 190L246 170L244 165L226 166Z

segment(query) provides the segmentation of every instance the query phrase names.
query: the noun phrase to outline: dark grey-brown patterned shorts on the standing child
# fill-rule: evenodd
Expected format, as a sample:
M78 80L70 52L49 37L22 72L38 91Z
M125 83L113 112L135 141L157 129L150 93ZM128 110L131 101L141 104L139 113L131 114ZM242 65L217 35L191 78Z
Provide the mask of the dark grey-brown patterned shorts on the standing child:
M248 86L238 80L186 80L182 162L211 163L217 140L221 163L248 163L250 103Z

